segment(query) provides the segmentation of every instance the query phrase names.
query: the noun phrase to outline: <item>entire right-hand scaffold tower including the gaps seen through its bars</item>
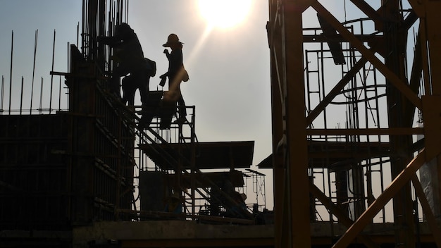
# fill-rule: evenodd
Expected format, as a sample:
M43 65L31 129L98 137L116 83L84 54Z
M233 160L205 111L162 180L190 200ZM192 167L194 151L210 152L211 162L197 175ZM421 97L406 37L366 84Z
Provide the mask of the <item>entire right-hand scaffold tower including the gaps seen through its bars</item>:
M344 1L344 18L367 17L339 21L319 1L270 1L275 223L289 230L275 229L275 247L311 247L304 237L313 233L302 227L316 222L341 235L332 247L426 245L423 225L440 246L438 178L416 174L439 155L437 144L416 139L439 137L421 125L439 128L425 107L439 104L429 71L440 63L428 57L439 44L426 34L437 33L435 6ZM304 27L311 18L316 27ZM307 208L311 215L299 214ZM387 233L390 240L373 240Z

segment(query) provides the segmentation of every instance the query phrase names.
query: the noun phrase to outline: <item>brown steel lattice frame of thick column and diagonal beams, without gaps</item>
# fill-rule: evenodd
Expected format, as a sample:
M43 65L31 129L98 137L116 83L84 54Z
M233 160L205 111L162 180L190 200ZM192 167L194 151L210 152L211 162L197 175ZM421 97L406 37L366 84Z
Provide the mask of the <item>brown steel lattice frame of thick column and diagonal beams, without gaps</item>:
M386 23L379 27L383 33L382 42L390 42L392 29L387 27L404 27L409 20L395 19L400 1L384 1L381 11L372 8L367 1L351 0L364 15L375 22ZM321 201L337 216L339 223L347 226L347 231L340 237L333 247L347 247L353 240L363 242L367 247L378 247L368 236L361 235L361 230L371 223L373 217L390 199L394 198L394 211L404 209L403 216L411 211L408 202L409 189L412 182L413 189L421 202L426 220L433 233L434 242L441 247L440 230L428 201L423 193L416 171L423 163L437 158L437 168L440 168L441 149L441 30L436 27L440 23L441 1L410 0L411 13L416 14L419 23L418 46L414 54L413 71L408 78L402 66L404 58L397 54L395 58L382 58L375 54L375 47L366 46L359 37L344 27L337 18L328 11L320 1L314 0L273 0L269 1L269 22L267 25L268 42L271 51L271 95L273 110L273 169L275 193L275 246L276 247L311 247L311 231L309 228L309 193ZM316 109L305 113L305 86L304 86L304 34L302 32L302 13L307 8L313 8L319 13L340 35L340 39L349 42L361 54L359 63L373 64L383 74L389 85L387 100L399 101L402 109L389 111L388 128L366 129L313 129L312 121L323 111L335 96L344 87L344 79L321 100ZM387 21L385 21L385 19ZM393 21L392 21L393 20ZM384 30L381 30L383 28ZM408 28L408 27L407 27ZM386 47L384 54L393 54L399 44ZM383 47L382 46L382 47ZM390 49L389 51L387 49ZM398 49L397 49L398 50ZM380 54L380 53L379 53ZM395 66L394 66L395 63ZM356 66L354 66L356 68ZM358 69L359 70L359 69ZM422 76L422 77L421 77ZM421 90L421 85L425 92ZM347 83L347 82L346 82ZM423 116L424 128L412 128L411 122L418 109ZM402 122L397 122L397 116ZM333 204L326 204L326 195L309 182L308 178L308 142L309 135L389 135L390 150L409 149L409 146L400 142L401 139L412 135L423 134L426 138L422 151L412 158L412 153L399 163L392 163L392 183L380 194L374 202L369 204L358 219L352 221L347 213L339 211ZM410 156L409 156L410 154ZM438 169L438 171L441 171ZM438 178L440 173L438 173ZM306 189L307 190L299 190ZM403 194L397 194L404 192ZM402 197L402 198L399 198ZM404 198L403 198L404 197ZM401 239L402 247L414 247L414 224L409 218L395 221L408 225L408 230L398 230L397 237Z

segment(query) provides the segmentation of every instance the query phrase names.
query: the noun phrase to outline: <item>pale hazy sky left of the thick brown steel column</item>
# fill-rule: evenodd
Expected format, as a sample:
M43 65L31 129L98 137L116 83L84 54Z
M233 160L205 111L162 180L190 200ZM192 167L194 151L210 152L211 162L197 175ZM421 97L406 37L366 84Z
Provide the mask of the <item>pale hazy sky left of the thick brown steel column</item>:
M231 6L248 3L242 22L228 28L206 20L198 1L129 1L128 23L135 30L144 56L156 61L158 71L150 81L156 89L159 75L166 72L168 61L163 46L170 33L184 42L184 64L190 81L181 85L189 106L196 106L196 134L199 141L254 140L254 162L271 154L270 52L266 36L268 1L226 1L230 8L222 17L233 18ZM39 104L40 83L44 80L44 99L49 96L52 44L56 30L54 70L67 72L67 44L77 43L77 24L81 24L82 1L71 0L0 0L0 76L4 76L4 102L8 109L13 31L12 109L19 109L21 77L24 77L23 109L29 109L35 31L38 30L35 82L32 109ZM237 6L239 8L239 6ZM220 10L220 7L216 9ZM208 16L214 16L213 13ZM214 26L213 26L214 25ZM218 23L218 25L221 25ZM58 77L54 77L58 85ZM63 80L63 79L62 79ZM63 85L63 83L62 83ZM58 86L54 87L58 91ZM37 97L38 99L36 99ZM58 97L58 96L57 96ZM54 99L58 108L58 99ZM66 106L63 102L61 108ZM47 106L46 106L47 108ZM252 169L256 170L253 166ZM266 177L267 207L273 208L272 175Z

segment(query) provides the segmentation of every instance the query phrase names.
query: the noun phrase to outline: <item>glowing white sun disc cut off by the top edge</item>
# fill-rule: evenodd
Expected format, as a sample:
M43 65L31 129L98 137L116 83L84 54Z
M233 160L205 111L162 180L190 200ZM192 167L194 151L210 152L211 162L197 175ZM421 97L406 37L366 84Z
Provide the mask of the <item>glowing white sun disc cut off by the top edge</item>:
M252 0L199 0L201 16L211 27L235 27L247 18Z

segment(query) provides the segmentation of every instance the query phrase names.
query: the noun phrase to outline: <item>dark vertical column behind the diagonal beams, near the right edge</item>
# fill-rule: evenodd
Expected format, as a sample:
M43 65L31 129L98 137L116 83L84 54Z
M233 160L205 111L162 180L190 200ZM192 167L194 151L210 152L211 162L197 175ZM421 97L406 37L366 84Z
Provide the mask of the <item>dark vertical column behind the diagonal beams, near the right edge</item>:
M406 64L406 35L407 30L402 30L401 23L403 18L400 11L399 0L382 1L380 14L385 19L383 23L385 37L385 66L397 75L403 82L406 82L405 64ZM405 102L402 94L395 87L392 87L390 80L386 80L387 94L387 120L389 128L411 128L412 123L406 120ZM414 112L412 112L414 113ZM392 178L397 177L401 173L413 154L411 153L412 137L411 135L389 135L389 144L391 156L391 175ZM393 198L394 223L397 225L395 231L395 242L397 247L414 247L414 217L411 199L410 182L406 182L404 187Z

